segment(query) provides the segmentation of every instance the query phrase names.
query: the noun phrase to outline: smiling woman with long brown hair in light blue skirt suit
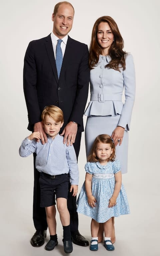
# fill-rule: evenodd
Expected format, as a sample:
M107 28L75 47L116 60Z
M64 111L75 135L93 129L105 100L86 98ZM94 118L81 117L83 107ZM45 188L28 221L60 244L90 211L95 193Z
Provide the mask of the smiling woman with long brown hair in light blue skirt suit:
M116 146L116 159L122 164L121 172L126 173L128 131L135 98L135 70L133 57L123 51L123 38L116 22L109 16L100 17L93 26L89 66L91 100L85 111L87 156L95 138L99 134L109 134ZM102 240L103 224L100 225L98 242ZM114 217L111 240L115 242Z

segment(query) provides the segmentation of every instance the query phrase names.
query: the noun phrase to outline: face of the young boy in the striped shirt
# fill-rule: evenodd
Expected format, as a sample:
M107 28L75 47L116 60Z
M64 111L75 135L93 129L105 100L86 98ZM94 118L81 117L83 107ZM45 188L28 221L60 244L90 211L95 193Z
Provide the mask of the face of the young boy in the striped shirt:
M54 139L59 133L64 122L56 122L49 115L45 115L44 121L42 121L45 132Z

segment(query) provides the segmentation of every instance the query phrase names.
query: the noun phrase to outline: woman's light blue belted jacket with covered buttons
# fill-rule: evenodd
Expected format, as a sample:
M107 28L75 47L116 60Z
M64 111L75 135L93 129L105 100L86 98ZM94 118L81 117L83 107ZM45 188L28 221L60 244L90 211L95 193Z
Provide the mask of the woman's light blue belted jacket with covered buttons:
M91 99L85 111L86 116L121 115L119 126L130 129L132 109L135 99L135 69L133 57L126 55L126 69L117 71L105 68L110 56L99 56L97 66L90 71ZM125 89L125 103L122 102Z

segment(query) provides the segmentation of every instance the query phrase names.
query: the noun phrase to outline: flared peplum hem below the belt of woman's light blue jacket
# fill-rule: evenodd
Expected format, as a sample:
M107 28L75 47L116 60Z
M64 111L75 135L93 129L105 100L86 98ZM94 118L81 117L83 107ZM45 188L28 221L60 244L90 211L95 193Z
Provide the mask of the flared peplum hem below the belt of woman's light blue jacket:
M101 104L101 107L100 107ZM85 116L116 116L121 115L123 108L122 101L90 101L84 112Z

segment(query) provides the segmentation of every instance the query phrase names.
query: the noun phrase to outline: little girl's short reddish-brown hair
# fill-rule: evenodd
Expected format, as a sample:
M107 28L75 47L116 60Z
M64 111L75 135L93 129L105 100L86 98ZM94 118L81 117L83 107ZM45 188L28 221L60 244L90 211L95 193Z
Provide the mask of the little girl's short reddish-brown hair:
M98 135L95 138L95 141L92 145L90 154L87 157L87 161L88 162L98 162L98 157L96 155L96 146L97 146L97 143L99 143L99 142L105 143L105 144L106 143L110 144L111 148L113 149L113 152L110 155L109 159L107 159L107 160L108 161L114 161L115 157L116 157L116 155L115 155L115 145L114 145L113 139L108 134L101 134L101 135Z

